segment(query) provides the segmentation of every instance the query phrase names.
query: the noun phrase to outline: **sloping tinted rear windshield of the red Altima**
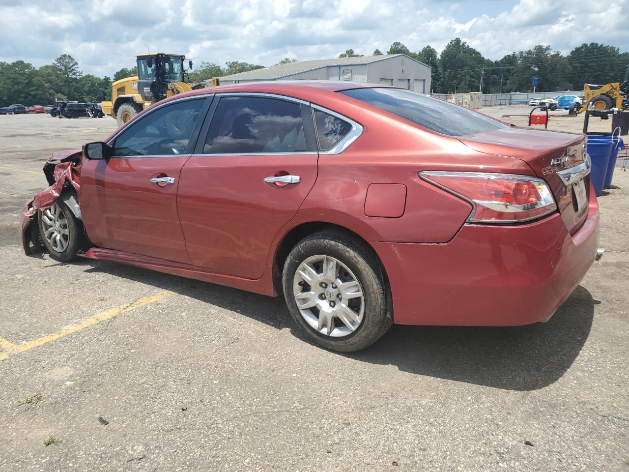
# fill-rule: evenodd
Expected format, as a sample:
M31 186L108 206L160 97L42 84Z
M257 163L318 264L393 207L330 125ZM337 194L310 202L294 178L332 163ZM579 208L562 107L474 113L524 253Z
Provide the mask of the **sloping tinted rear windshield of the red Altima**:
M345 90L340 93L443 135L465 136L508 128L508 125L487 118L476 111L410 90L370 88Z

